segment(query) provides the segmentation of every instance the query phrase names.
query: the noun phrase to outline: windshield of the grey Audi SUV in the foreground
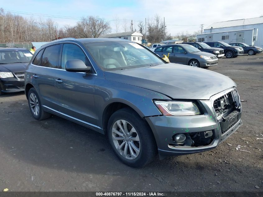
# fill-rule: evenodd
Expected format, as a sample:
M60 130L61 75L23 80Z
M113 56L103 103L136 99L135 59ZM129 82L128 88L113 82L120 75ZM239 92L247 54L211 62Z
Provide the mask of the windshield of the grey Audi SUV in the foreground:
M104 41L84 45L103 70L139 68L165 63L155 54L134 42Z

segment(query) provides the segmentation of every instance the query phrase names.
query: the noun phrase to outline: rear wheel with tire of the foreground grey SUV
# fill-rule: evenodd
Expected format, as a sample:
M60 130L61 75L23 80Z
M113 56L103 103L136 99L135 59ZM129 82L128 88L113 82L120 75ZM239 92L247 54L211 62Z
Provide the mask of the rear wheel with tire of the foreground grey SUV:
M27 98L28 98L29 110L31 111L32 116L36 120L44 120L50 117L51 114L43 110L41 101L39 99L39 96L35 88L32 87L28 91Z

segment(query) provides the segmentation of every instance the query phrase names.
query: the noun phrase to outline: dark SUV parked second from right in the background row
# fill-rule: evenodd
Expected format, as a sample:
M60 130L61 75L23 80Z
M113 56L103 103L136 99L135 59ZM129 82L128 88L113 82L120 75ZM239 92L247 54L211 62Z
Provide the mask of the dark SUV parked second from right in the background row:
M225 42L213 41L213 42L204 42L204 43L208 44L210 47L216 47L216 48L224 49L226 58L235 58L239 55L244 54L244 50L242 47L238 47L238 46L234 47L234 46L228 45Z

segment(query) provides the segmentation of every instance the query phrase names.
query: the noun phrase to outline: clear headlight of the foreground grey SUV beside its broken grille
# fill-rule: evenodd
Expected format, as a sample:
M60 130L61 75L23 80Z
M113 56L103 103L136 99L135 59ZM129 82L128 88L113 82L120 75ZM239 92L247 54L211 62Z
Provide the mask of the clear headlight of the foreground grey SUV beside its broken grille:
M187 101L154 101L163 115L198 115L200 110L193 102Z

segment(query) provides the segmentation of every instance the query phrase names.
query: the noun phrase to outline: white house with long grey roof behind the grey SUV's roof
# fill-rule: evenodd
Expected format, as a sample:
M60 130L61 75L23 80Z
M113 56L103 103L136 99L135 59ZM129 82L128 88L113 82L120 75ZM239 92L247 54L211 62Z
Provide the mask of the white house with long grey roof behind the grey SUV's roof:
M105 34L101 35L100 38L124 38L126 40L134 41L139 44L142 44L143 35L138 31L129 31L129 32L121 32L115 34Z

